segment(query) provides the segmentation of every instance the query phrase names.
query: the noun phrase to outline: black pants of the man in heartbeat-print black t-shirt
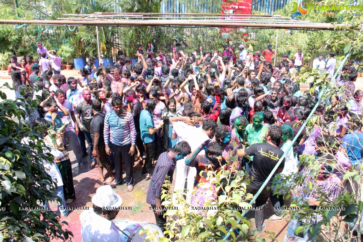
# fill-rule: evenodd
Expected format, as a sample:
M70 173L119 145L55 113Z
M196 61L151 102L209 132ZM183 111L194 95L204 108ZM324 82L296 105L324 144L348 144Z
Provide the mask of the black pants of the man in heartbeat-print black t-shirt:
M257 229L261 229L262 228L262 223L264 223L264 210L265 210L265 205L267 200L269 199L270 196L270 191L267 190L266 188L267 186L265 186L265 188L262 190L262 192L260 193L260 195L257 197L256 199L256 208L259 207L260 211L256 210L255 216L254 216L254 221L256 224L256 228ZM246 193L251 193L252 195L256 194L257 191L260 188L254 185L249 184L248 188L246 189Z

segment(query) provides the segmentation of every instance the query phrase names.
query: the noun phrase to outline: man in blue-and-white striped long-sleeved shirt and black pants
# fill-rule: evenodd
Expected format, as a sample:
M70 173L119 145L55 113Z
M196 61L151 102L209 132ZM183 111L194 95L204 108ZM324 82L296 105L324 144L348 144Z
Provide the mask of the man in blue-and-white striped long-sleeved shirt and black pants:
M106 153L113 156L116 179L113 188L122 184L122 161L125 163L127 192L134 189L134 159L136 130L132 114L122 109L121 97L112 99L114 110L105 117L103 136L105 138Z

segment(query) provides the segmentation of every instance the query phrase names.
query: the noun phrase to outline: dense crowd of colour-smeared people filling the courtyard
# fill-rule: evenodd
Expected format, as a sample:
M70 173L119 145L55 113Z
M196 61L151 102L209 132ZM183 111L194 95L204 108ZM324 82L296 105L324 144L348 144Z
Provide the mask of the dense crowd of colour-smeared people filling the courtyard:
M52 148L59 168L63 193L57 194L66 204L76 199L66 143L72 147L79 168L85 167L83 157L89 155L90 168L97 165L99 169L99 180L112 188L125 181L127 192L134 189L134 164L141 163L141 175L150 180L146 203L155 208L156 224L162 230L166 223L163 210L158 209L162 207L162 185L166 176L172 180L175 169L174 190L183 190L187 180L191 204L200 204L203 197L214 196L198 190L198 184L208 182L208 170L245 169L253 177L246 192L256 194L287 152L275 173L287 177L301 171L313 186L309 194L297 196L309 198L313 206L320 204L315 199L318 189L324 190L328 201L349 189L342 185L342 174L362 162L363 92L355 90L353 60L343 66L336 80L344 95L334 96L329 103L319 100L317 90L300 91L296 75L304 66L301 49L292 58L284 54L283 60L273 66L272 45L262 53L247 53L242 44L239 53L227 44L223 53L202 46L198 52L184 53L175 47L172 56L164 56L162 50L154 52L154 46L148 43L146 50L138 47L135 65L131 58L121 55L112 66L104 66L100 60L95 67L95 58L90 58L80 70L82 78L66 79L60 74L56 51L48 51L41 43L38 46L39 64L29 55L21 64L12 56L8 71L16 98L21 98L24 91L23 98L39 101L38 108L25 112L24 123L34 129L48 127L44 141ZM330 52L325 61L319 54L313 69L326 70L332 77L334 55ZM316 104L313 115L317 124L304 128L291 144ZM327 145L326 140L335 145ZM228 164L230 151L237 151L237 167ZM322 162L318 177L310 177L309 169L299 165L298 158L303 154L316 154ZM341 169L324 163L334 159ZM256 199L260 208L255 216L258 232L264 228L268 199L274 207L284 206L282 196L272 195L268 189L273 182L276 178L269 180ZM195 196L199 197L197 201ZM97 214L109 213L94 208ZM269 219L282 221L278 211ZM301 223L291 221L286 238L296 235Z

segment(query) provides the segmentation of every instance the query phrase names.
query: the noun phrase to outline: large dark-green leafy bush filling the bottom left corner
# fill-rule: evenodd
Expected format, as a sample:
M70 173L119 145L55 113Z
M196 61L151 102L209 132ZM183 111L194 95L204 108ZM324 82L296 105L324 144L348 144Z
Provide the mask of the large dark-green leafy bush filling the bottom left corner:
M29 108L36 107L36 101L23 98L12 101L2 91L0 97L3 99L0 103L0 206L4 209L0 211L0 238L4 241L66 240L73 234L62 229L62 223L67 223L60 223L59 215L51 210L20 209L39 208L39 202L59 199L53 193L56 184L44 171L43 160L53 162L53 156L43 153L42 134L18 124L25 114L19 107L29 112ZM23 138L28 138L29 144L22 144Z

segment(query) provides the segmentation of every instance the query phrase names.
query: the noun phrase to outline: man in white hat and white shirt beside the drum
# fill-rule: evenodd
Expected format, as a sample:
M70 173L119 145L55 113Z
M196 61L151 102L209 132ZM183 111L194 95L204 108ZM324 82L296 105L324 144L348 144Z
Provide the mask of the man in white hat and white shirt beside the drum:
M122 205L121 197L110 185L105 185L97 188L92 203L93 211L79 216L82 242L121 242L119 229L112 221Z

